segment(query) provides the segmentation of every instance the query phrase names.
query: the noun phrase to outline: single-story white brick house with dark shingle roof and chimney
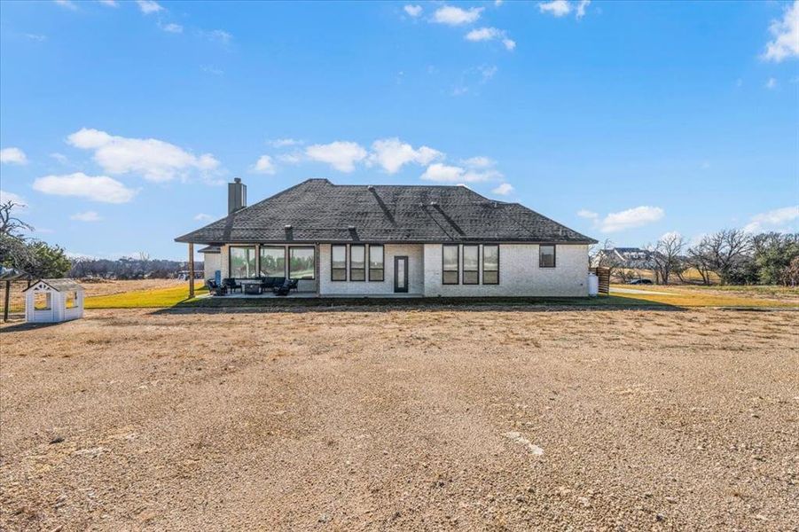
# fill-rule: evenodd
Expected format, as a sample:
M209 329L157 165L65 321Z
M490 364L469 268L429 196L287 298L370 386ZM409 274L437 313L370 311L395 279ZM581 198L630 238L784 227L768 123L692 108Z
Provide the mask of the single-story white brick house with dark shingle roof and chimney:
M220 250L222 278L288 277L318 296L588 294L596 240L465 186L339 185L309 179L176 238ZM208 249L203 250L208 257Z

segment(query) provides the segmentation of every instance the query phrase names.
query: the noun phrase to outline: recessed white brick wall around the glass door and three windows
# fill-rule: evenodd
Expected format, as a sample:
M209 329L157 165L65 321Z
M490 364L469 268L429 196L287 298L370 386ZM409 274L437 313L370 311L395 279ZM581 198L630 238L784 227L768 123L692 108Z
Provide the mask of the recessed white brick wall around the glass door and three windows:
M385 272L382 282L330 280L330 244L319 245L319 293L321 295L388 295L394 293L394 257L408 257L408 293L424 293L424 260L421 244L384 246ZM369 254L366 254L367 260ZM347 252L347 278L349 278L349 249ZM368 278L368 272L367 272Z

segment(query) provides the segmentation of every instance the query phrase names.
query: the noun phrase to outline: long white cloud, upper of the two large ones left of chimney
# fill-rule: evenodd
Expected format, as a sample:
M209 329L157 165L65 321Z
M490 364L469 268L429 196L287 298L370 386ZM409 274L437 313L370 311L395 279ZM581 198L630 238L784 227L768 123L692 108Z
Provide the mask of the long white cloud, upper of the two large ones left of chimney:
M150 181L168 181L192 169L210 172L219 161L210 153L195 156L155 138L128 138L83 128L67 137L77 148L94 150L94 160L110 174L138 173Z

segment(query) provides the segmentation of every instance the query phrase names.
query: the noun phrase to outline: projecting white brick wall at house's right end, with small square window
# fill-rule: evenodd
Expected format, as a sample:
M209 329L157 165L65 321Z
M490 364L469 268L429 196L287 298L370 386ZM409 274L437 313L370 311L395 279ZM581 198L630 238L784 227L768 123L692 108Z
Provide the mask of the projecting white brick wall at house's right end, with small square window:
M442 285L442 245L426 244L424 256L427 297L588 295L588 246L585 245L559 245L555 268L538 268L537 244L501 244L498 285ZM482 249L480 256L482 261ZM460 260L463 262L462 250ZM461 274L462 268L461 264Z

